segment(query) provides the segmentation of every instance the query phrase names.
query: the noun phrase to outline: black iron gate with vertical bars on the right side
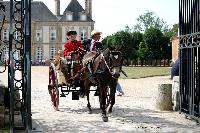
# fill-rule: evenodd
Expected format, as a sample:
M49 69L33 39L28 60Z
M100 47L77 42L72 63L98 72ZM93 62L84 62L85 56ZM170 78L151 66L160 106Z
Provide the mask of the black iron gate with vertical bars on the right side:
M180 111L200 118L200 1L179 0Z

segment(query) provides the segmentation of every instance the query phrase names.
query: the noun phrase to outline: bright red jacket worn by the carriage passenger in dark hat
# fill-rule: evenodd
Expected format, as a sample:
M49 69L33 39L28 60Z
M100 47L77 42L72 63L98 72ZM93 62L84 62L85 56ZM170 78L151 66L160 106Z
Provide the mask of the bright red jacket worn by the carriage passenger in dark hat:
M64 44L64 56L69 56L70 52L75 52L80 48L80 51L83 52L83 45L81 41L75 40L73 43L68 41Z

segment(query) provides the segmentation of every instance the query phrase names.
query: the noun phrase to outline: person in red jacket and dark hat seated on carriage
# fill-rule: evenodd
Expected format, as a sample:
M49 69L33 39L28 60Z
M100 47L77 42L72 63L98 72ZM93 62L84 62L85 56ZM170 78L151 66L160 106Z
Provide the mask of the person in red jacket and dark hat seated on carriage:
M76 40L77 32L76 31L68 31L67 35L69 36L69 41L64 44L64 57L70 56L73 52L81 52L83 53L83 45L81 41Z

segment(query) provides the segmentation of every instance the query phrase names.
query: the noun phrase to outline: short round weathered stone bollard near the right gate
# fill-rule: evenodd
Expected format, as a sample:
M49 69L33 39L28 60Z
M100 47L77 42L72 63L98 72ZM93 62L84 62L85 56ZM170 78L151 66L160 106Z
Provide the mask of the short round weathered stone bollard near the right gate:
M156 98L156 109L160 111L172 110L172 84L159 84Z

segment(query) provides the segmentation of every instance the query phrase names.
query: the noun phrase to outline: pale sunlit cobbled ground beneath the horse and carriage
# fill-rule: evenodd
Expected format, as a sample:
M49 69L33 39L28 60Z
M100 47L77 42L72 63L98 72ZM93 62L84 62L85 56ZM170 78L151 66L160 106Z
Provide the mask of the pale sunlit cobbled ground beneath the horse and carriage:
M6 78L0 74L0 80ZM43 133L72 132L166 132L198 133L200 126L178 112L155 110L158 84L171 83L169 76L120 80L125 96L116 96L116 104L108 122L100 116L98 97L90 94L93 113L87 112L87 100L71 100L71 94L60 98L60 111L51 106L47 91L48 67L32 67L33 127Z

